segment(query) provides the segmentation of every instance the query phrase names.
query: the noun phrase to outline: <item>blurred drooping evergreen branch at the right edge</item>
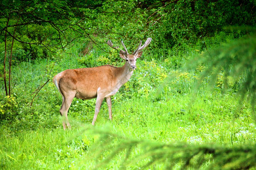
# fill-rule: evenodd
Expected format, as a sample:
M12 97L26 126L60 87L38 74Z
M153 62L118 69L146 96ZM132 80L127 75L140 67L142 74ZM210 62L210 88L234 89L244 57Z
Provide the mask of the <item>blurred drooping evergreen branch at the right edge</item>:
M211 75L209 84L217 81L217 87L221 87L224 91L233 87L241 95L241 100L247 95L254 115L256 34L255 29L252 29L254 32L242 39L222 43L217 48L201 53L199 57L193 58L187 67L195 69L198 65L206 66L206 69L201 72L197 86Z

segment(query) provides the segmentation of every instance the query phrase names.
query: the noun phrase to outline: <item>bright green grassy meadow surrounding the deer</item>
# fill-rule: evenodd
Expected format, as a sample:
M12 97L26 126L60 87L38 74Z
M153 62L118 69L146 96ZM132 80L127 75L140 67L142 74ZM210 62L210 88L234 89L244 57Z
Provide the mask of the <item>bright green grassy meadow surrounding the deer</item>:
M220 33L206 43L214 48L232 39ZM168 54L145 50L129 82L112 97L113 120L108 118L104 101L92 126L96 100L74 99L68 113L72 129L64 131L59 113L61 95L52 77L65 69L123 65L114 51L105 53L93 48L83 56L81 50L76 44L68 53L60 51L52 58L15 62L13 96L4 97L1 91L1 169L139 169L154 158L143 157L147 145L248 147L255 151L255 115L249 99L245 97L240 103L237 95L241 79L230 81L223 92L221 74L214 84L209 83L209 75L196 86L204 65L193 71L179 71L205 53L199 45ZM117 148L120 143L128 146L134 141L144 144L130 150ZM138 155L142 158L137 159ZM210 154L205 155L200 169L209 168L214 161ZM250 161L254 169L255 152ZM144 168L165 169L167 165L163 161ZM183 165L177 161L173 168L182 169ZM197 169L192 165L190 169ZM229 165L224 168L229 169Z

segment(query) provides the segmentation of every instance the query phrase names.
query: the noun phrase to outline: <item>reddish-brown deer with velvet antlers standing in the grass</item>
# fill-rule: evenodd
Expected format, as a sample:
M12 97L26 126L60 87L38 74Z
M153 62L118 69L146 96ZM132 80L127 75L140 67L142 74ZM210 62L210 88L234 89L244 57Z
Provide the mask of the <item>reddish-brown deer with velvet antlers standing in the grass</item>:
M112 120L111 96L115 95L119 88L131 78L133 71L137 68L137 58L142 56L142 50L150 44L151 40L151 38L148 38L146 42L144 42L144 45L142 45L142 41L140 41L138 48L133 54L127 52L123 41L121 41L121 44L125 50L119 50L118 46L114 47L112 41L108 40L106 43L111 48L119 51L119 56L125 60L125 65L122 67L104 65L81 69L68 69L53 77L53 83L62 96L60 114L61 117L63 117L64 130L71 128L68 121L68 109L75 97L84 100L96 98L95 112L92 121L93 126L104 99L106 99L108 105L109 119Z

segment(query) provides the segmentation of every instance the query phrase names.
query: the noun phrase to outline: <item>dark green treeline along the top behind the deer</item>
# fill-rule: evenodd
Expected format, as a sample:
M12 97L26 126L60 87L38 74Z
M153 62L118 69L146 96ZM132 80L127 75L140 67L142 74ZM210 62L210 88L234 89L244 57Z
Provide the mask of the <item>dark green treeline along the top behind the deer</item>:
M0 15L1 50L26 61L50 57L77 41L102 49L108 39L135 45L138 39L152 37L151 49L192 46L224 26L254 26L255 4L252 0L4 0ZM4 58L1 53L1 62Z

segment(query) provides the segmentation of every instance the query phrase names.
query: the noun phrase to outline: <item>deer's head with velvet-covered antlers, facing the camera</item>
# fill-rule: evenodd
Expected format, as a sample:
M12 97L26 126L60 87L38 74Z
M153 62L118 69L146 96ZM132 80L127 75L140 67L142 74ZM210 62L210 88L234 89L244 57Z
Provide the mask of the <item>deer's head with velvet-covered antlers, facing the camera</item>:
M125 44L123 44L123 41L121 41L122 45L123 45L123 48L125 48L125 50L119 50L119 56L123 59L126 60L126 63L129 65L129 68L130 70L135 70L136 69L136 61L137 61L137 58L141 57L142 55L142 50L144 48L146 48L146 46L148 46L151 42L151 38L148 38L147 41L144 43L144 45L141 46L141 42L139 42L139 46L138 48L133 52L133 54L129 54L126 47L125 47ZM114 49L118 49L119 47L116 46L116 47L113 47L113 43L109 40L107 42L107 44L109 46L111 46L112 48Z

